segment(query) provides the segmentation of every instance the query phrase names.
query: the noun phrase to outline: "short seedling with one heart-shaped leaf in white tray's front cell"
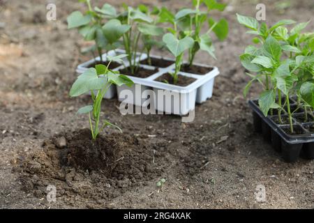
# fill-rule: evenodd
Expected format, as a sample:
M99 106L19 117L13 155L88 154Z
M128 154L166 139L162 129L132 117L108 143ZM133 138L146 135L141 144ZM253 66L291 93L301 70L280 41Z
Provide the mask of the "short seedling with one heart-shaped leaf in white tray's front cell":
M184 52L193 47L194 41L193 38L189 36L179 40L172 33L166 33L165 36L163 36L163 42L176 58L174 72L170 73L170 75L172 76L173 84L177 84L178 72L181 70Z

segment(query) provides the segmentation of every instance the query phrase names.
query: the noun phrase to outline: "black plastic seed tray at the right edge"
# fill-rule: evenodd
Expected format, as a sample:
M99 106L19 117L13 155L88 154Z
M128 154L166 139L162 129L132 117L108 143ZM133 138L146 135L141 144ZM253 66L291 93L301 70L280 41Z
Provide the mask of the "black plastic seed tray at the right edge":
M278 115L267 117L262 114L258 106L258 100L250 100L248 105L253 109L253 123L256 132L262 133L264 140L271 143L274 149L281 152L286 162L295 162L299 157L314 159L314 120L308 116L308 121L303 122L304 111L299 109L293 114L293 127L296 134L290 134L289 123L280 125L276 123ZM290 98L290 107L295 109L297 102ZM283 120L287 114L282 114ZM305 118L304 118L305 119Z

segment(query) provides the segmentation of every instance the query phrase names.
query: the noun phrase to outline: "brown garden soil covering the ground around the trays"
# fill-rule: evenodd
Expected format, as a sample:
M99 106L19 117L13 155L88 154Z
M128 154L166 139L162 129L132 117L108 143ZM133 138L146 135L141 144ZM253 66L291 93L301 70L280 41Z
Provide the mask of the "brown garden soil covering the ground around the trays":
M105 154L110 154L110 148L117 150L107 158L109 163L117 161L110 171L100 162L101 156L96 157L97 163L105 166L96 170L66 162L68 154L76 155L73 151L82 148L73 146L78 144L75 136L89 126L87 116L75 113L90 105L90 97L68 96L77 77L75 68L91 59L80 54L90 43L66 25L67 15L82 10L82 3L54 1L57 20L47 21L43 1L4 2L0 7L0 208L314 208L314 161L283 162L254 132L251 109L243 97L249 78L239 55L251 44L251 36L237 23L236 13L254 16L256 1L230 1L223 13L230 35L222 43L214 38L217 61L205 52L195 57L197 63L217 66L220 75L213 98L195 107L192 123L170 115L121 116L117 99L103 101L102 117L124 131L117 136L117 130L106 128L102 134L110 143L101 146ZM122 1L106 2L121 6ZM187 0L130 2L173 10L190 5ZM268 24L283 19L306 22L313 17L311 0L291 1L283 14L274 1L260 3L267 6ZM211 15L221 17L214 11ZM313 29L311 22L306 30ZM259 94L256 84L248 98ZM122 143L117 147L112 145L116 137ZM119 160L120 156L124 158ZM163 190L156 187L161 178L166 179ZM56 202L47 201L46 185L56 187ZM257 185L266 188L265 202L255 199Z

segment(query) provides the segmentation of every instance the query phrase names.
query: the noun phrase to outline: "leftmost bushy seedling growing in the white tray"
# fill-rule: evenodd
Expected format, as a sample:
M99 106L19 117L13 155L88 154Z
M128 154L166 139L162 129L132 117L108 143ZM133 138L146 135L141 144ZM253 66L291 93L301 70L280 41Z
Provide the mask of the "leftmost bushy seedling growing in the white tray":
M83 52L93 52L94 54L96 50L100 62L103 62L103 50L108 52L121 46L119 40L130 29L130 26L123 25L116 20L118 15L115 8L107 3L103 5L103 8L96 7L93 10L90 0L80 0L80 2L86 3L88 10L84 15L80 11L71 13L67 18L68 29L76 28L84 40L94 40L95 45L84 49Z

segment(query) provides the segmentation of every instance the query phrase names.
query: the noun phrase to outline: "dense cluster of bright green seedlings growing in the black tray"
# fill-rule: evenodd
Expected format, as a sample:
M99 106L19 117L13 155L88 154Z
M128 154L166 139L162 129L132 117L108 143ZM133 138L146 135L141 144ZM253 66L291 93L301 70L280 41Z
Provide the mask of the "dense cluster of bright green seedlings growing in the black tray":
M264 116L273 114L273 109L277 109L279 122L282 123L281 114L287 113L290 133L294 133L294 112L303 107L305 120L308 114L313 116L314 33L301 33L307 23L297 24L288 31L285 26L294 24L292 20L281 20L269 28L253 17L237 15L237 18L240 24L250 29L248 33L257 36L253 38L253 43L260 45L249 45L240 56L244 68L256 73L246 73L251 81L246 85L244 95L247 95L253 82L259 82L264 89L259 98ZM290 107L290 98L294 95L297 95L298 101L296 111Z

